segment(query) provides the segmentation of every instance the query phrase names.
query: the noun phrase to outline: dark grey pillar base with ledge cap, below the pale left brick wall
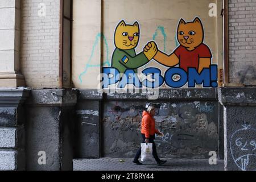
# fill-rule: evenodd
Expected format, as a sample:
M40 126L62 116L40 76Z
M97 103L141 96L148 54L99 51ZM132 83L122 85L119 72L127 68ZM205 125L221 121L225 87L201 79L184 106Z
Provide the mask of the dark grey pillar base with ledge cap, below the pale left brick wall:
M76 90L32 90L26 102L26 169L72 170ZM46 163L39 164L39 152Z

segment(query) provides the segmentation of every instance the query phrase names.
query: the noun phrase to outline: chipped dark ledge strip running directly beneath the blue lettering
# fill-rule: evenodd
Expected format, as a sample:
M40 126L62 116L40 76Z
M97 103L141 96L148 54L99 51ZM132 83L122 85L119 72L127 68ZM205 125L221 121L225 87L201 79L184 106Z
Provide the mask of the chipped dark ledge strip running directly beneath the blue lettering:
M217 89L159 89L154 92L106 94L107 100L148 100L155 95L155 101L217 101ZM152 100L152 101L154 101Z

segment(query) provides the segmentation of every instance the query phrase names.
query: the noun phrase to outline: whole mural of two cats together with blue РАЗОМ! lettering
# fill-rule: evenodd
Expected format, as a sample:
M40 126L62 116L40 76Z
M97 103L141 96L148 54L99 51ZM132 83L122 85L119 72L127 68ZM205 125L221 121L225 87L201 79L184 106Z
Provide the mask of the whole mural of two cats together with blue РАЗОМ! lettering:
M118 23L114 32L115 49L111 67L102 68L102 88L117 84L117 88L134 85L135 88L159 88L164 83L170 88L217 88L218 68L212 64L212 52L204 43L204 27L200 18L192 22L180 19L176 30L177 48L170 55L158 49L157 43L149 41L142 52L136 53L140 39L139 23ZM165 34L164 34L165 35ZM146 67L155 60L159 65L168 67L162 73L157 67ZM144 66L144 67L143 67ZM138 68L143 69L138 73Z

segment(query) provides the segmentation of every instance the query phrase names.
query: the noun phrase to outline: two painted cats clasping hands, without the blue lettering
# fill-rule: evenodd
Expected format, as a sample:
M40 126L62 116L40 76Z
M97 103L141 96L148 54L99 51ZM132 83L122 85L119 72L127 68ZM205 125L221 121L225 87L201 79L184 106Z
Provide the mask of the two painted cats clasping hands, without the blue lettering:
M147 43L143 51L136 53L140 38L139 23L126 24L123 20L115 29L115 50L112 55L112 67L119 73L126 69L133 69L135 73L138 68L154 59L166 67L179 68L188 72L188 68L196 68L201 73L204 68L209 68L212 53L204 42L204 28L201 20L195 18L192 22L180 19L177 28L177 40L180 44L170 55L160 51L154 41Z

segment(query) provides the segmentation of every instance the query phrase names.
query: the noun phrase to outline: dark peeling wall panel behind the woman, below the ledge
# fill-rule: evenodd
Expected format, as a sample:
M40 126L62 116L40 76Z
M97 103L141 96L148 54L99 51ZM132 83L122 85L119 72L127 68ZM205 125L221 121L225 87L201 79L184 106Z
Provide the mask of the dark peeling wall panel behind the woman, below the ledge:
M133 102L104 103L102 152L106 157L133 158L141 144L142 112L155 104L159 155L164 158L209 158L218 151L217 102Z

